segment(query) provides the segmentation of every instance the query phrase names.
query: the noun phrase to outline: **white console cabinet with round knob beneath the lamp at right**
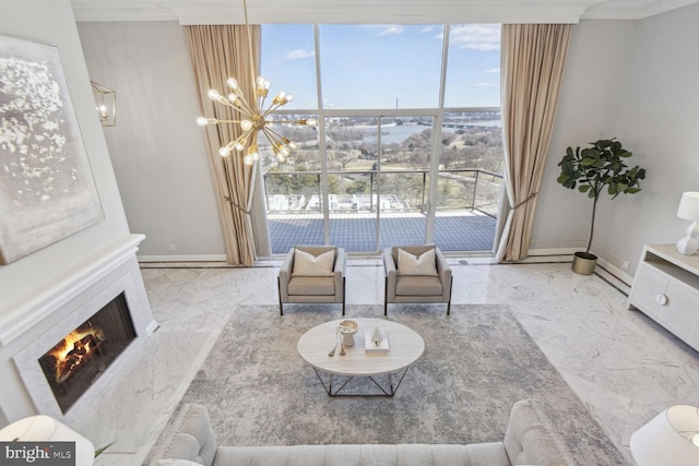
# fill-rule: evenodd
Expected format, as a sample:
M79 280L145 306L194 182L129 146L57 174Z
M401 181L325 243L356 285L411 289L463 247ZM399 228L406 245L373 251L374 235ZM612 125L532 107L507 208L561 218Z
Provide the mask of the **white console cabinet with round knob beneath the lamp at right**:
M699 254L644 246L627 304L699 350Z

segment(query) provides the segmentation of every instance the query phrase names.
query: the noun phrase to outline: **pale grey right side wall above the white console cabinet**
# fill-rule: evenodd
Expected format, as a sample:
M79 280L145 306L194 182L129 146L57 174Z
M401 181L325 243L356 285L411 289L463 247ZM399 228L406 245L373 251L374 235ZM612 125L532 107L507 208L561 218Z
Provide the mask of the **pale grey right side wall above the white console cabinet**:
M629 203L633 215L617 208L600 217L601 238L635 264L644 243L675 242L685 235L689 223L677 218L677 205L684 191L699 191L697 24L699 4L640 22L620 88L615 132L648 175L643 191Z

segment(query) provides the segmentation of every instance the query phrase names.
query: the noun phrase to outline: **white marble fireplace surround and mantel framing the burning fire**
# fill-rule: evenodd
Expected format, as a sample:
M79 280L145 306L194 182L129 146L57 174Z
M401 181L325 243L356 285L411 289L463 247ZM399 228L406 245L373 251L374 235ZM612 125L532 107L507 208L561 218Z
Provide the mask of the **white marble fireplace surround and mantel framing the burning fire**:
M48 289L44 296L37 297L34 300L37 306L24 312L21 319L0 327L0 345L8 345L15 338L26 337L26 333L33 331L36 322L51 313L64 315L60 322L51 326L50 332L44 331L32 335L32 342L12 358L23 386L5 389L24 391L33 402L37 414L51 416L69 425L73 423L115 375L140 354L145 339L157 327L135 258L138 244L144 238L143 235L129 235L106 248L93 261L63 277L60 284ZM125 294L137 338L63 414L38 359L121 292Z

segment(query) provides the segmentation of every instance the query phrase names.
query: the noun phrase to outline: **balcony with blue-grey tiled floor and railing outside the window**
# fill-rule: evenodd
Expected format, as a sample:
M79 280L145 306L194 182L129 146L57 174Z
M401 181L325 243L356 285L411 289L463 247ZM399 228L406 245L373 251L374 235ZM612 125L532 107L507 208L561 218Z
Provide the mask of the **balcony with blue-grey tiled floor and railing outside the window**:
M377 252L425 242L427 170L345 170L328 176L330 243L348 252ZM435 243L443 251L490 252L501 188L499 174L439 170ZM268 171L264 190L272 253L285 253L294 244L324 243L320 171Z

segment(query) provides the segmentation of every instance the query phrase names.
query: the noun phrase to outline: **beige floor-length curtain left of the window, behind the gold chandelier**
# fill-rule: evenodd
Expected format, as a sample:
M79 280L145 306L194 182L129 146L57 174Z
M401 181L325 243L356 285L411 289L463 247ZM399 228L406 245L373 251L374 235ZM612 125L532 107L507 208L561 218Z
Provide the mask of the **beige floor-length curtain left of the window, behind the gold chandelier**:
M240 119L240 116L229 107L214 105L206 97L210 88L226 95L228 77L235 77L238 81L250 105L254 105L252 86L254 70L259 69L260 61L260 26L249 27L252 38L252 70L246 26L186 26L201 115L217 119ZM237 124L208 126L205 129L209 163L218 198L228 263L250 266L257 259L250 222L257 164L252 167L245 165L242 157L236 152L225 158L218 155L218 148L236 139L239 130Z

